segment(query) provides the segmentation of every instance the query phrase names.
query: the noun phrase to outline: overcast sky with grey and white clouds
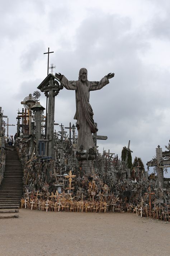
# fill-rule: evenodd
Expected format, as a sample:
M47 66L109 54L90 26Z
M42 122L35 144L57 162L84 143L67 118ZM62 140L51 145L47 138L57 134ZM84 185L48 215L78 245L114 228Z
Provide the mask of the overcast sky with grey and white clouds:
M0 106L9 123L17 109L47 76L49 64L69 80L88 69L88 80L115 77L92 91L90 104L99 151L121 157L131 140L132 159L144 164L155 148L170 139L170 1L169 0L6 0L0 6ZM46 107L46 97L40 103ZM60 91L55 122L68 126L75 114L75 91ZM59 130L56 127L56 130ZM16 126L9 127L15 134ZM170 172L169 172L170 173ZM170 175L169 175L170 176Z

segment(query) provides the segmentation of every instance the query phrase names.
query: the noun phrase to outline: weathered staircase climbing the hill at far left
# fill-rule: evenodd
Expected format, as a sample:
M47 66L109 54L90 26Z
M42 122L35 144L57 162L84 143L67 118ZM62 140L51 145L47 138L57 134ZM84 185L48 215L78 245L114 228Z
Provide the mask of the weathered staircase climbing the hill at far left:
M4 178L0 184L0 212L3 213L5 211L10 212L10 209L12 212L17 212L14 210L20 207L23 193L22 165L15 147L8 146L7 148L5 151Z

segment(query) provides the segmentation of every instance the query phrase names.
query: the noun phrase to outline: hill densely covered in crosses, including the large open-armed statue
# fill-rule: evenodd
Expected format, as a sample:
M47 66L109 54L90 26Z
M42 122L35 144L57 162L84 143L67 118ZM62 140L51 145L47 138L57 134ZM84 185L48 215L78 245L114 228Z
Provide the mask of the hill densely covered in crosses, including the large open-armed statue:
M0 191L6 184L5 159L10 152L17 152L22 166L22 182L17 183L22 192L20 207L55 212L132 212L169 221L170 179L164 178L164 172L170 166L170 143L165 151L158 145L147 170L141 158L135 157L132 163L130 141L122 156L98 151L98 140L107 136L98 135L90 91L111 86L113 77L114 73L109 73L99 82L88 81L86 68L80 69L77 81L49 73L21 102L12 144L9 123L4 121L7 116L0 108ZM76 94L75 123L67 126L54 121L55 98L65 89ZM40 104L43 93L46 107ZM149 167L153 170L150 175Z

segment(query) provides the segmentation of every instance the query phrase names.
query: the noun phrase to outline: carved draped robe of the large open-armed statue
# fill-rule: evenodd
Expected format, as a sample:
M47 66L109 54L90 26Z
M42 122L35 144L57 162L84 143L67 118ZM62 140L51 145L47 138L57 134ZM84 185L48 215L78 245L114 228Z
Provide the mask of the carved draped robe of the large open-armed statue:
M76 113L74 119L77 120L78 129L77 151L89 152L89 149L96 151L92 133L98 131L93 120L93 109L89 103L90 91L100 90L109 83L105 76L99 82L68 81L65 76L60 80L67 90L76 91Z

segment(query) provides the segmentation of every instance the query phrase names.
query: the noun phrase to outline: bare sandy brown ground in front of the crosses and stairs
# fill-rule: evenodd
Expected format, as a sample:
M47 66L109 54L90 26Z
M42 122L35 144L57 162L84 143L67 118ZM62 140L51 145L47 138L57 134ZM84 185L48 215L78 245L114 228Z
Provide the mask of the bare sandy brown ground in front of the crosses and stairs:
M0 219L0 256L169 256L170 224L127 213L19 210Z

